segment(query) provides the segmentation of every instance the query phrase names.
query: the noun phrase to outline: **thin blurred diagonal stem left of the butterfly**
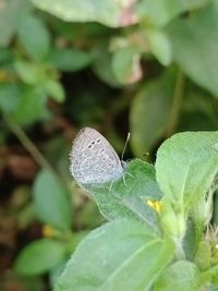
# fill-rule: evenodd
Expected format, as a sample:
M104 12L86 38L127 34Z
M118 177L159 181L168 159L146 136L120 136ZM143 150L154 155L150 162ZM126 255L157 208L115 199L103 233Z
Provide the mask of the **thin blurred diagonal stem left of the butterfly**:
M29 140L26 133L10 117L3 116L4 122L9 126L9 129L16 135L22 145L27 149L27 151L32 155L34 160L41 167L50 171L56 177L58 175L53 170L52 166L48 162L48 160L41 155L38 148L34 145L34 143Z

